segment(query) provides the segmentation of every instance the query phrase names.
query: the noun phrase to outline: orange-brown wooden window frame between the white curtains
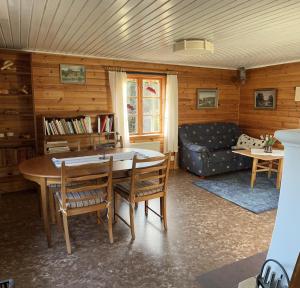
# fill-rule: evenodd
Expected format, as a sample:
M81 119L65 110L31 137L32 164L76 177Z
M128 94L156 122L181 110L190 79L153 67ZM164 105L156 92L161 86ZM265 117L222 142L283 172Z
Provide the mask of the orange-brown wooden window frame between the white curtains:
M165 103L165 89L166 89L166 77L164 75L150 75L150 74L129 74L127 79L135 79L137 81L137 132L130 133L129 137L138 136L153 136L162 135L163 133L163 111ZM143 80L158 80L160 82L160 115L159 115L159 131L144 132L143 131ZM130 96L127 96L130 97ZM147 98L147 97L145 97Z

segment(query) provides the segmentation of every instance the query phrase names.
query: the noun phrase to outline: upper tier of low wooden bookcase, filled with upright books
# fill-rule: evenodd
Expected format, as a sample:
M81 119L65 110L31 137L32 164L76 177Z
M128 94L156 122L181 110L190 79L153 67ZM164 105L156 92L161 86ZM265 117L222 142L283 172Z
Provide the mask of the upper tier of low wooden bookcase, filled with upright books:
M37 116L39 153L46 141L80 141L82 150L92 149L94 142L114 139L114 114L109 112L78 112Z

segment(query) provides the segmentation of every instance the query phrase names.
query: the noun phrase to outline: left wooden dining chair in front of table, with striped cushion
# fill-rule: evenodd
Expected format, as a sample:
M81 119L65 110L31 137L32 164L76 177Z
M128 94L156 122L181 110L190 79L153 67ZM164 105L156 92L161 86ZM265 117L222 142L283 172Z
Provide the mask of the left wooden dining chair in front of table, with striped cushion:
M108 234L113 243L112 232L112 167L113 158L97 164L61 167L61 191L55 194L56 217L61 228L61 217L67 251L71 254L68 217L79 214L97 212L98 221L101 220L101 210L107 209Z

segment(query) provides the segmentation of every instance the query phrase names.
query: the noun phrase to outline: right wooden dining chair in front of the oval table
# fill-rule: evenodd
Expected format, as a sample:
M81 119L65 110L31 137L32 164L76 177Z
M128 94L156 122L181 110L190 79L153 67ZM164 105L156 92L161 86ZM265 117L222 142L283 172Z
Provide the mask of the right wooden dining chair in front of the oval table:
M138 202L145 201L145 215L148 210L159 216L167 230L167 184L170 169L170 155L152 157L147 159L133 158L132 174L130 181L121 182L114 186L114 218L117 216L131 229L132 239L135 239L134 231L134 207ZM120 195L129 204L130 224L116 212L116 196ZM160 199L160 214L151 209L148 201Z

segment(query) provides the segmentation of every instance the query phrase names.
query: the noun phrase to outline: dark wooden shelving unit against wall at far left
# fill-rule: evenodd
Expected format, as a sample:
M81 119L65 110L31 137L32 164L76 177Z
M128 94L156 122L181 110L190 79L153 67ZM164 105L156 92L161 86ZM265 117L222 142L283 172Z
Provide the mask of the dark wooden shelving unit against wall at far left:
M31 54L0 50L0 193L33 187L19 173L18 165L36 154Z

